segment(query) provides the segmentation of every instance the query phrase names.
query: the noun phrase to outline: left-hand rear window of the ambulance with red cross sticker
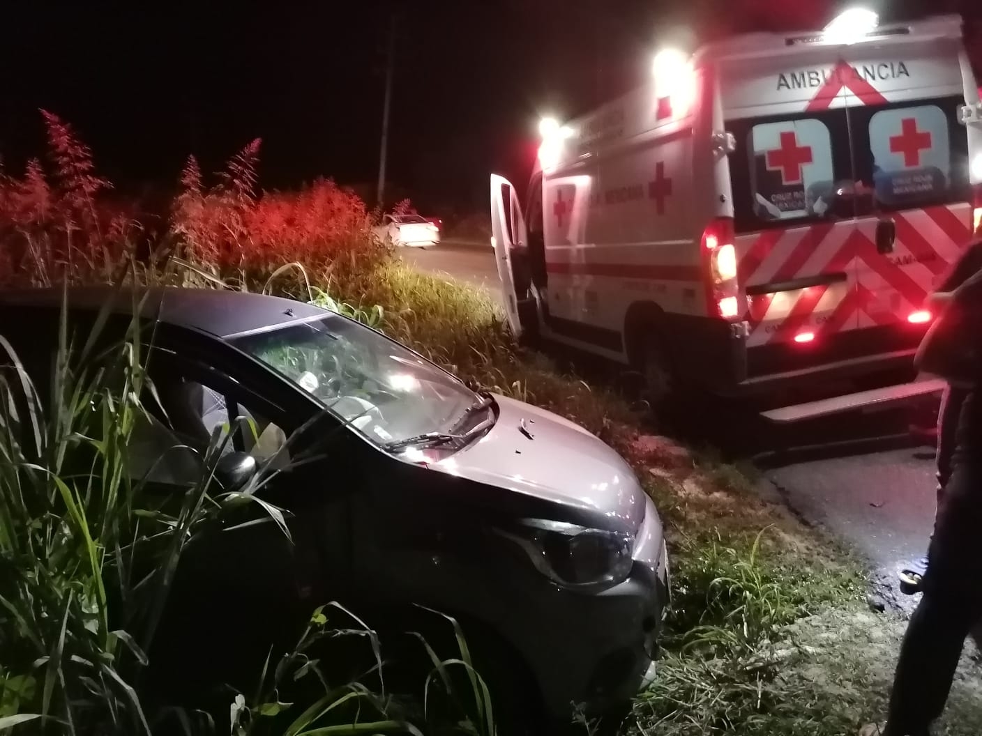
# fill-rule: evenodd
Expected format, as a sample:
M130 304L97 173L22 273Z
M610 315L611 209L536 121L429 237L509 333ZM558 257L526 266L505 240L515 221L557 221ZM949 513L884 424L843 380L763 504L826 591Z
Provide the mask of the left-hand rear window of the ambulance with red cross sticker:
M732 121L737 232L852 217L838 191L852 182L846 113Z

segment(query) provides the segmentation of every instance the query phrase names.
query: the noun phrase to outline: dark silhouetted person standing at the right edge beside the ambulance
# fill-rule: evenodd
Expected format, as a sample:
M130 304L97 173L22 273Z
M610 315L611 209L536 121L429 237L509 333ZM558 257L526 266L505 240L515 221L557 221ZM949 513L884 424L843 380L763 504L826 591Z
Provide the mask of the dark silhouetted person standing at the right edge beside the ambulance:
M941 715L965 639L982 619L982 242L955 265L943 289L938 323L918 364L949 380L939 419L938 472L943 484L920 579L923 597L900 647L886 725L861 734L929 736Z

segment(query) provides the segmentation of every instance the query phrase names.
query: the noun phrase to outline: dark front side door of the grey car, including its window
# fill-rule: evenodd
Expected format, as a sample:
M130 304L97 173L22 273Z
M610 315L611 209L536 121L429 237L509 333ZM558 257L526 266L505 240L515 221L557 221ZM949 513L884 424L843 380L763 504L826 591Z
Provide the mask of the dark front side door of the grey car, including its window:
M158 493L182 494L200 473L195 453L217 438L223 454L256 459L264 485L255 496L284 509L280 516L244 503L186 546L154 655L167 671L195 650L211 652L195 657L205 660L197 684L230 677L239 686L254 684L248 678L274 644L266 633L282 634L277 644L292 643L313 608L343 588L346 501L322 490L327 458L299 465L298 453L307 459L310 446L288 442L300 432L300 417L289 411L289 390L275 377L264 387L254 383L262 372L237 378L234 370L160 349L148 371L153 391L144 396L147 415L128 447L131 476L147 478Z

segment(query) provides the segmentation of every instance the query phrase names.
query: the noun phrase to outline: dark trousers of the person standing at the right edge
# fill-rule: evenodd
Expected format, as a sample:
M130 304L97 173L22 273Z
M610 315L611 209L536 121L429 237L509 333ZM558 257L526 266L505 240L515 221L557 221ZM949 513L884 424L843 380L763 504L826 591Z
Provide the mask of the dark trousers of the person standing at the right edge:
M982 394L965 399L957 422L923 598L900 648L889 736L928 733L945 709L965 638L982 618Z

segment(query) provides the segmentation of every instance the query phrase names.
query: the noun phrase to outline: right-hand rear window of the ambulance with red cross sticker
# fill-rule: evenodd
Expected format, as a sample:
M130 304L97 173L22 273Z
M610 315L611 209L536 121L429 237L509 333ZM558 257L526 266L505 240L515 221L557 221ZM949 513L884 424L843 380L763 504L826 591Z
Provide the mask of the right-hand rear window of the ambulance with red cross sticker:
M957 120L962 104L950 97L849 110L856 178L872 187L865 209L970 199L967 134Z

